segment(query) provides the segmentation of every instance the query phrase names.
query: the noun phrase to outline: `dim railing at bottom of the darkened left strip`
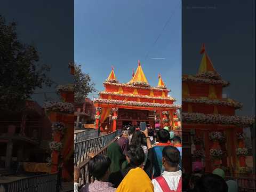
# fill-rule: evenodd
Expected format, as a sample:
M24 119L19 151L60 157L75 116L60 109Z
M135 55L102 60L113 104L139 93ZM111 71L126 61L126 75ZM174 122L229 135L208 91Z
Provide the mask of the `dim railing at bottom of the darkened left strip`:
M54 192L57 190L57 174L36 175L9 183L2 183L1 185L7 192Z

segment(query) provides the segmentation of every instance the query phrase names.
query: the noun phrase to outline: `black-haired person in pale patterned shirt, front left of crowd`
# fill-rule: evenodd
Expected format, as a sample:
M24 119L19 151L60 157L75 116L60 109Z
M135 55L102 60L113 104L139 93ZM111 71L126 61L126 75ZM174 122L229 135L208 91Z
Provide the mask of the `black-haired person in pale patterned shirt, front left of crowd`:
M81 188L81 192L114 192L116 188L113 187L113 184L108 182L108 177L110 174L110 158L106 155L98 154L89 160L88 170L95 177L93 183L86 183Z

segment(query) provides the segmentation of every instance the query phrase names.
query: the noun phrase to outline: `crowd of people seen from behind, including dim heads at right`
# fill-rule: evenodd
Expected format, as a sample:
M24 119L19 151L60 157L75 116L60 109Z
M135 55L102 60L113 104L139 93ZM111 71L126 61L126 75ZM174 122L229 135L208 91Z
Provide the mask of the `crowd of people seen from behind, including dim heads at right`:
M80 191L238 192L235 181L225 181L223 170L204 174L201 162L194 164L193 174L185 174L181 142L168 127L156 132L124 127L122 136L108 146L106 154L89 154L88 170L95 180Z

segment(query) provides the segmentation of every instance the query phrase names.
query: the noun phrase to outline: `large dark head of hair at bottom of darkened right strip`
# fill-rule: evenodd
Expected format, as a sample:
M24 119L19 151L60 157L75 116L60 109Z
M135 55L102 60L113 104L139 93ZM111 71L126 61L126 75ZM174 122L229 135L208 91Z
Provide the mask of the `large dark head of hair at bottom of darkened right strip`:
M217 174L203 175L195 186L196 192L228 192L228 185L225 180Z

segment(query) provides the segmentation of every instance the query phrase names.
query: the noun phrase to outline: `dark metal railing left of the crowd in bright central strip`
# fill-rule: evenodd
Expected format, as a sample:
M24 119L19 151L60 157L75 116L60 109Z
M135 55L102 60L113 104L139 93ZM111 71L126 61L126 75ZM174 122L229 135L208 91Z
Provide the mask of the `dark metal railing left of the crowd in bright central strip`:
M116 136L121 134L121 130L116 130L115 132L102 135L100 137L95 137L92 139L87 139L83 141L78 141L74 143L74 166L78 166L87 160L87 154L90 152L97 153L102 148L106 147L108 143L113 141Z

